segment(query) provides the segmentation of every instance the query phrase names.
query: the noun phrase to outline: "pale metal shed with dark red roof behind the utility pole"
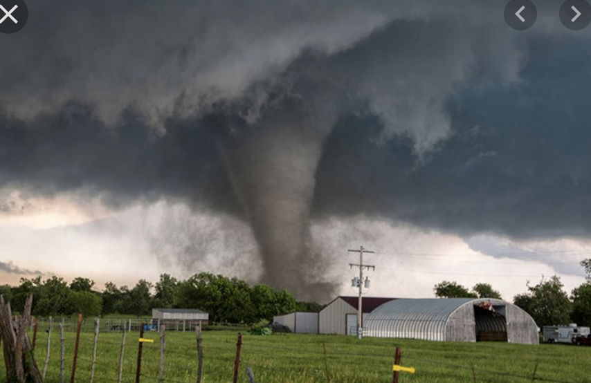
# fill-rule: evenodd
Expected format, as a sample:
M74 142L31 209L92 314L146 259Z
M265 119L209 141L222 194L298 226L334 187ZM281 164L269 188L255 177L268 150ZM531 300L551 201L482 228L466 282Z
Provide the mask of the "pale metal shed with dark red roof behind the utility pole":
M374 308L395 298L363 297L363 321ZM358 297L336 297L320 310L318 332L320 334L356 335ZM365 326L365 325L363 325Z

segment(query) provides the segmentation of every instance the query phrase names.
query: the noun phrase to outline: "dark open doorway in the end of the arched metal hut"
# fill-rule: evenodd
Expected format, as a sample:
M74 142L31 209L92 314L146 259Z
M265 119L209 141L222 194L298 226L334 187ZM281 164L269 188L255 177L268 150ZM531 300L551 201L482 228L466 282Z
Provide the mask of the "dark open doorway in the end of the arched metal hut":
M480 303L474 306L476 342L507 342L507 317L504 306Z

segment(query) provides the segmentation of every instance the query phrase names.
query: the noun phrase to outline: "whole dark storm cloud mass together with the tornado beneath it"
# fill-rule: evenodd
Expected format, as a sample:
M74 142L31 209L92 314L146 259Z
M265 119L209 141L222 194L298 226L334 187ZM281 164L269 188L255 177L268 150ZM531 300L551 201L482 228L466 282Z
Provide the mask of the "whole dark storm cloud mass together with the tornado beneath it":
M563 122L583 113L566 106L581 82L559 68L589 60L562 48L583 40L565 37L552 1L531 35L489 1L29 3L26 28L0 43L5 189L233 214L264 281L313 298L335 286L313 216L588 230L588 136Z

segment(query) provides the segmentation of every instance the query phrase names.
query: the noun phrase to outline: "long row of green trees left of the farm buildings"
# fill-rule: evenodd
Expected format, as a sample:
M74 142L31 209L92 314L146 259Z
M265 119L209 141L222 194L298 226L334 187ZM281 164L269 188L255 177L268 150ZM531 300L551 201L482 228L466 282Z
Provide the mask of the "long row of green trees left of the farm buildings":
M77 277L67 283L53 276L21 279L19 286L0 286L0 294L14 310L24 307L33 294L33 315L39 317L74 315L150 315L152 308L199 308L209 313L214 323L253 324L272 320L274 315L296 310L320 310L318 303L297 301L286 290L264 284L251 286L246 281L209 272L178 280L161 274L156 283L141 279L132 288L107 282L102 292L91 279Z

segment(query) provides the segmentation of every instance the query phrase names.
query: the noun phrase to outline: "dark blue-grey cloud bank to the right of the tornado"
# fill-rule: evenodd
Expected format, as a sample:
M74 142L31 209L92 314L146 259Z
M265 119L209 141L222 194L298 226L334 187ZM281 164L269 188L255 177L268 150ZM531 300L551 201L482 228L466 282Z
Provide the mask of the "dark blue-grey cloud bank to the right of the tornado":
M588 236L591 73L576 68L591 57L580 44L538 39L521 82L464 89L448 102L452 136L422 163L408 139L376 144L374 118L346 120L325 147L315 211L462 234Z

